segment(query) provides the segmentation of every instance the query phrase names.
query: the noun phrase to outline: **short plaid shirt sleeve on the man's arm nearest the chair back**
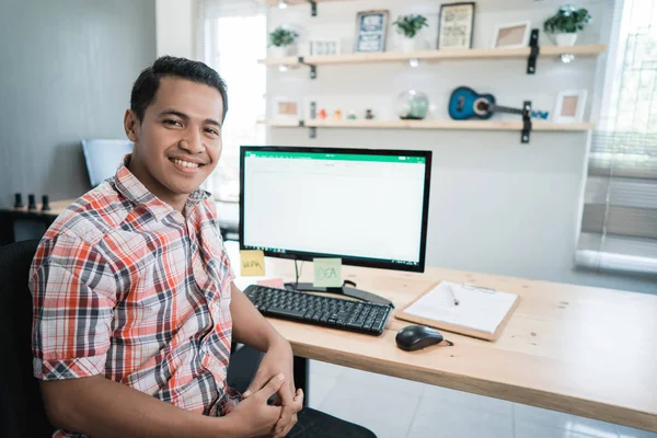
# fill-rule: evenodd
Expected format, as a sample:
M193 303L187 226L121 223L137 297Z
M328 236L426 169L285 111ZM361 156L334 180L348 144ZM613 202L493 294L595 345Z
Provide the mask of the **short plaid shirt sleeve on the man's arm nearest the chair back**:
M32 263L30 289L34 376L62 380L104 373L117 292L106 258L79 238L44 240Z

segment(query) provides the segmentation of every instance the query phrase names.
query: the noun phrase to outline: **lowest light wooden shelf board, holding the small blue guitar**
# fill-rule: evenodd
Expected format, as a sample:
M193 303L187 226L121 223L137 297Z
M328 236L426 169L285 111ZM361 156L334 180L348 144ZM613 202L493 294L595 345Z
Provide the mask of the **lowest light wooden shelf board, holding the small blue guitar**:
M272 127L299 127L296 120L265 120ZM306 120L306 127L315 128L370 128L370 129L461 129L461 130L521 130L521 122L488 120ZM585 131L596 127L592 123L557 124L535 120L532 130Z

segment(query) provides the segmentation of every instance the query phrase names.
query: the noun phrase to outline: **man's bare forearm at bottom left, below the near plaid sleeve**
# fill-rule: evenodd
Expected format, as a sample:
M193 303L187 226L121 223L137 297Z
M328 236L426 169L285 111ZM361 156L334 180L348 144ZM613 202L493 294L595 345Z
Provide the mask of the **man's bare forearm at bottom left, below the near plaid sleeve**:
M207 417L94 376L41 382L50 422L94 438L238 437L231 415Z

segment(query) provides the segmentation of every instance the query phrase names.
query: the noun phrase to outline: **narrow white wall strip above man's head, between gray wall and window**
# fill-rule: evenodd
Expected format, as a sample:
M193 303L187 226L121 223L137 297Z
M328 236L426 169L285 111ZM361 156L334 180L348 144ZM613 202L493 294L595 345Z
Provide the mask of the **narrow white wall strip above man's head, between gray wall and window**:
M196 0L155 0L158 56L193 59L195 51Z

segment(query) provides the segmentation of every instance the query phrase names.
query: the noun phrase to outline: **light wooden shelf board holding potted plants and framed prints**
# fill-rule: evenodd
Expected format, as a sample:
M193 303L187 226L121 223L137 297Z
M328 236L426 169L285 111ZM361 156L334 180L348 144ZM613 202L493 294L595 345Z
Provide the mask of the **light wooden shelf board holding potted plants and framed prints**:
M603 44L589 44L572 47L564 46L542 46L539 59L541 57L557 57L563 54L574 54L577 56L595 56L604 51ZM306 64L314 66L335 65L335 64L367 64L367 62L396 62L407 61L410 59L420 60L459 60L459 59L509 59L527 58L529 47L522 48L471 48L471 49L443 49L443 50L420 50L413 53L384 51L382 54L345 54L345 55L325 55L303 57ZM285 58L260 59L260 64L267 66L297 65L298 57L289 56Z

